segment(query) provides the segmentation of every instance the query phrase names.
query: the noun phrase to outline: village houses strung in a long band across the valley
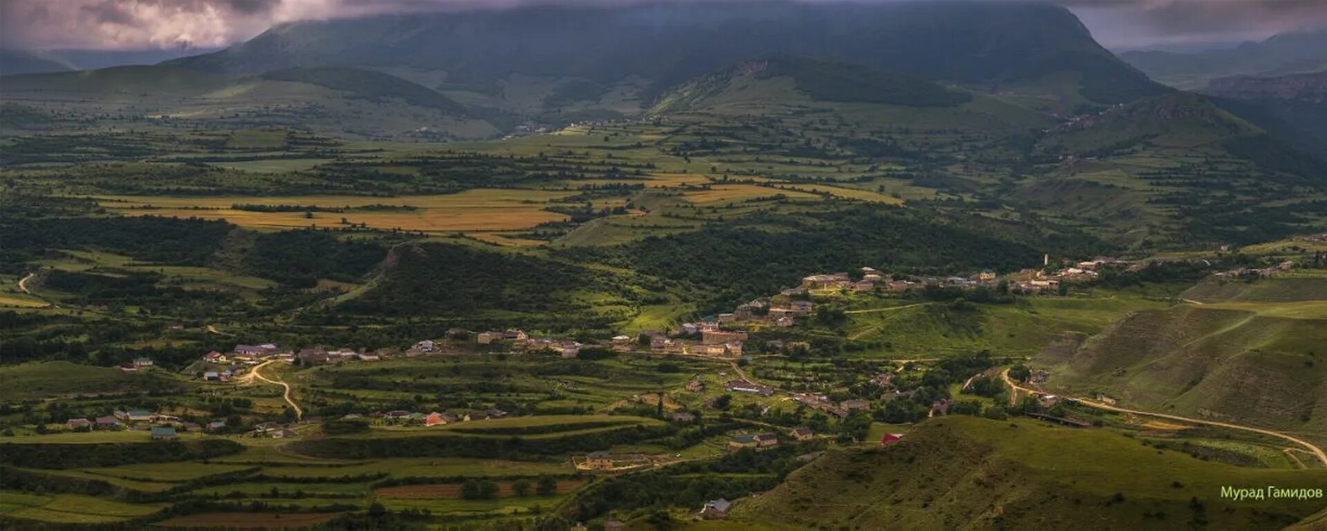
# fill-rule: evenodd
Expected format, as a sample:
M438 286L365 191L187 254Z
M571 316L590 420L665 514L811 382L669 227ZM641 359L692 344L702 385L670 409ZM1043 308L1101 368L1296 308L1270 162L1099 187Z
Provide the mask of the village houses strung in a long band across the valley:
M421 340L409 348L380 348L349 349L349 348L283 348L273 342L238 344L231 352L222 353L211 350L202 356L198 377L204 382L215 384L251 384L256 374L256 368L268 362L299 364L303 366L316 366L324 364L345 362L376 362L391 358L411 358L418 356L437 354L463 354L467 352L524 352L548 353L563 358L580 357L583 352L614 352L614 353L644 353L664 356L695 356L717 360L739 360L755 353L779 353L796 348L805 348L802 341L763 341L764 352L752 352L746 348L751 333L766 329L788 329L804 323L816 309L815 300L833 296L836 293L905 293L914 289L924 289L928 285L958 289L999 289L1006 285L1009 291L1018 293L1055 292L1060 283L1091 281L1096 279L1097 271L1104 267L1125 267L1127 262L1099 256L1092 260L1066 263L1066 267L1050 271L1050 258L1043 258L1043 269L1023 269L1010 275L998 276L993 272L978 272L971 276L917 276L917 275L889 275L872 267L861 267L856 275L847 272L813 273L803 277L796 287L784 288L776 295L758 297L739 304L733 312L707 316L698 321L682 323L670 331L642 331L636 336L618 335L608 340L594 342L580 342L571 339L536 337L525 331L483 331L471 332L459 328L447 331L445 339ZM1147 264L1133 264L1135 267ZM1292 264L1281 264L1277 271L1286 271ZM1271 273L1271 272L1266 272ZM153 366L153 360L138 357L129 364L121 365L125 372L137 372ZM736 365L734 365L736 369ZM721 373L726 374L726 373ZM892 388L893 373L880 373L872 377L874 385L882 389ZM261 378L265 380L265 378ZM686 385L690 392L702 392L705 384L693 380ZM775 393L788 396L809 409L823 412L836 418L847 418L853 410L869 409L871 404L864 400L831 401L823 393L795 393L776 389L768 385L751 381L744 373L727 380L723 389L731 393L755 394L770 397ZM932 413L943 414L950 401L937 401L932 406ZM508 413L490 408L475 412L372 412L352 413L342 421L370 422L378 425L418 425L442 426L453 422L468 422L472 419L503 418ZM689 422L690 413L675 413L674 421ZM316 423L321 419L304 418L300 423ZM150 431L153 439L170 439L175 431L218 431L227 429L224 421L214 421L206 426L182 422L179 418L157 414L153 412L130 410L117 412L114 417L97 419L72 418L68 422L70 430L82 429L134 429ZM261 422L255 425L248 433L253 437L288 438L297 437L292 425L277 422ZM788 438L802 441L813 437L809 429L798 427L790 431ZM764 449L779 443L779 438L771 433L740 433L734 434L729 442L729 449L743 447ZM614 465L616 463L616 465ZM622 465L626 463L626 465ZM587 470L616 470L621 467L633 469L642 465L638 459L614 459L610 455L597 455L594 459L587 457L577 463L579 469Z

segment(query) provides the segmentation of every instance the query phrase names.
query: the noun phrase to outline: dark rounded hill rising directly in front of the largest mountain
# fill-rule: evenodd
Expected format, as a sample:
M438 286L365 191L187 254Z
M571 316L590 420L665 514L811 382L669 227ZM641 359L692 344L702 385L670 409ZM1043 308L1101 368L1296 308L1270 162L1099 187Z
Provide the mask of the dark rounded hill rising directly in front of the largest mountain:
M949 108L970 101L971 96L905 73L772 54L682 84L664 94L652 113L697 110L725 102L770 104L772 100Z

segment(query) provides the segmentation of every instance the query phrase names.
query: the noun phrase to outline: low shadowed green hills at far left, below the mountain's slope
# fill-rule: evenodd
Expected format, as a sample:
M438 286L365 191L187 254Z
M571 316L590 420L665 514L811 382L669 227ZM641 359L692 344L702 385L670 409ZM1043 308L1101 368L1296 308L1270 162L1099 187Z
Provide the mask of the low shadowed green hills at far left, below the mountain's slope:
M506 118L483 109L471 113L399 77L344 68L228 76L163 65L114 66L5 76L0 82L7 104L33 115L61 109L90 117L80 127L98 119L127 119L133 127L208 119L214 126L284 126L350 138L447 139L496 135L490 119Z

